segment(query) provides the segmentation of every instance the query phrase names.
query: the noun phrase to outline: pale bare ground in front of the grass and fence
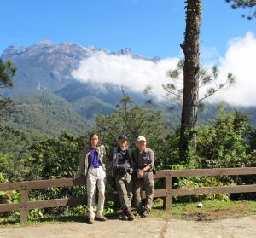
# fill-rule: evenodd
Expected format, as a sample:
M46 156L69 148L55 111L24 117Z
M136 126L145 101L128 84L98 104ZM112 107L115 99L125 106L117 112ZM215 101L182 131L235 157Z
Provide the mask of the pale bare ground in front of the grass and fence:
M254 238L256 215L215 220L177 218L136 218L134 221L109 219L92 225L82 222L0 227L0 237L159 237L159 238Z

